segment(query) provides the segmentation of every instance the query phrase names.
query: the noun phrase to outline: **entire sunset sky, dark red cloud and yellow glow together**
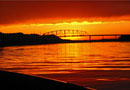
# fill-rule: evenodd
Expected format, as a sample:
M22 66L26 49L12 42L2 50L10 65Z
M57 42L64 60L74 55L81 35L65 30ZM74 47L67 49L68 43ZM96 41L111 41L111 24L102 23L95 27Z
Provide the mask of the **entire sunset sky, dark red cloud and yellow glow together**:
M130 1L0 1L0 32L130 34Z

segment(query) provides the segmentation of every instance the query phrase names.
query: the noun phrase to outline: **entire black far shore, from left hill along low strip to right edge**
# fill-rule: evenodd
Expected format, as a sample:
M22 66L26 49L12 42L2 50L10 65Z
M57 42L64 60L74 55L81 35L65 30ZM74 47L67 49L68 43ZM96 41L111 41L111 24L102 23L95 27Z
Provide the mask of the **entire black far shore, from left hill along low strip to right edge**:
M118 39L64 40L56 35L0 33L0 47L55 44L55 43L86 43L86 42L117 42L117 41L121 41L121 42L128 41L129 42L130 35L121 35Z

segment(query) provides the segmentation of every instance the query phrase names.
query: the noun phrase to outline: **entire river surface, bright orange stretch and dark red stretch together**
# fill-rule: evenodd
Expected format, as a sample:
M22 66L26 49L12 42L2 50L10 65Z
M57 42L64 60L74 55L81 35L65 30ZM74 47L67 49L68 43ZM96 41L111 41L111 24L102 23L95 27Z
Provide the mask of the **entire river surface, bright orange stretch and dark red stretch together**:
M130 42L0 47L0 70L96 90L130 90Z

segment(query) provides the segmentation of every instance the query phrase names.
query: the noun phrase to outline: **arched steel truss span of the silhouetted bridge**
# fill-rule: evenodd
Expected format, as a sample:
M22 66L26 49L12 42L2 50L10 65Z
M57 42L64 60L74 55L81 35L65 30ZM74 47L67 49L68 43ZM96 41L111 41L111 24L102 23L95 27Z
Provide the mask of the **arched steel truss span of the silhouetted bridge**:
M56 35L59 37L74 37L74 36L87 36L89 35L86 31L82 30L56 30L43 33L43 35Z

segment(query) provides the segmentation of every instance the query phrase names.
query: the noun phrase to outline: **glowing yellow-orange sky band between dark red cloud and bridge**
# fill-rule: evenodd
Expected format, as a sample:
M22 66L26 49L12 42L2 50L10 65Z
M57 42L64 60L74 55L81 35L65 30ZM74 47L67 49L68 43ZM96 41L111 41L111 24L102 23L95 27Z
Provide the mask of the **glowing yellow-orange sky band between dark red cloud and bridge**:
M3 33L36 33L42 34L55 30L83 30L89 34L127 34L130 33L130 21L71 21L58 23L13 24L0 27Z

